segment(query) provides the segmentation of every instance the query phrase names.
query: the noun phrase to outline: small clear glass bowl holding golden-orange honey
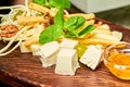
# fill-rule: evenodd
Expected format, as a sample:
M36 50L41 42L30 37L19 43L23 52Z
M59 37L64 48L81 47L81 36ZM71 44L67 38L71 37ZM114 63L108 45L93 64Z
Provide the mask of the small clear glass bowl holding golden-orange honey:
M130 79L130 44L110 46L103 55L105 66L114 76Z

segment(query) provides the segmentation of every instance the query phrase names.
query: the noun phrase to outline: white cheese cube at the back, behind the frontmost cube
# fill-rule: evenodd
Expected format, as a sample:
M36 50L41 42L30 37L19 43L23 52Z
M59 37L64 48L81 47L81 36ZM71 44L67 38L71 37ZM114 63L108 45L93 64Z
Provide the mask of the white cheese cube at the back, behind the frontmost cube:
M60 44L61 48L75 48L78 45L77 40L72 40L72 39L63 39L63 41Z

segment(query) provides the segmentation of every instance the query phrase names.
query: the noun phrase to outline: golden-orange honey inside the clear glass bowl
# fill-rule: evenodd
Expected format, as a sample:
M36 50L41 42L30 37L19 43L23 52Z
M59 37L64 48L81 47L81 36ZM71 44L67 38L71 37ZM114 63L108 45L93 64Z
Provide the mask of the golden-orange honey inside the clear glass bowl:
M130 53L113 53L105 61L105 65L115 76L130 79Z

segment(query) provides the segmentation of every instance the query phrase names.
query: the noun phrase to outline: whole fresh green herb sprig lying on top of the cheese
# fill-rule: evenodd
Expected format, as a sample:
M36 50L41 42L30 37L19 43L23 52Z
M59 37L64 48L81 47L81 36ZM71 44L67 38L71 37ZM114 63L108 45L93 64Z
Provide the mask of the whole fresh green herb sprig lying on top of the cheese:
M56 40L61 36L65 37L79 37L94 29L94 26L88 26L80 33L78 28L81 27L86 18L77 15L72 16L67 21L64 21L63 12L64 9L69 9L69 0L32 0L32 2L38 3L43 7L56 8L58 9L57 13L54 16L54 24L47 27L39 36L39 42L46 44L53 40Z

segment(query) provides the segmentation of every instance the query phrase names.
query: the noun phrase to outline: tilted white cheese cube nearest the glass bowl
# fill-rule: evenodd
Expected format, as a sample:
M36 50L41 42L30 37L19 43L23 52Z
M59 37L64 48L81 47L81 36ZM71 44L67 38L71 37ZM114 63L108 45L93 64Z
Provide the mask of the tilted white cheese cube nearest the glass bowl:
M80 62L86 64L88 67L95 70L101 61L103 50L94 45L90 45L80 58Z

